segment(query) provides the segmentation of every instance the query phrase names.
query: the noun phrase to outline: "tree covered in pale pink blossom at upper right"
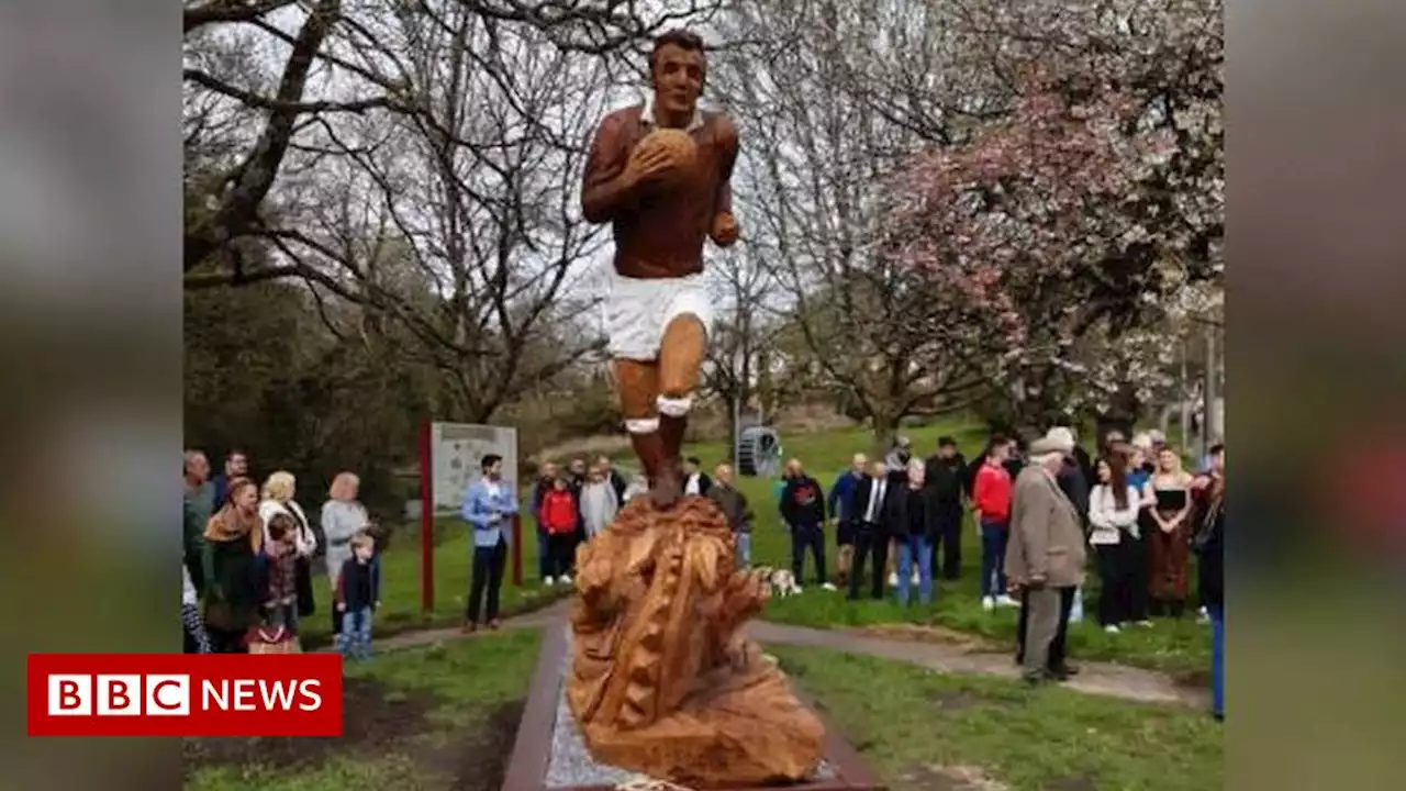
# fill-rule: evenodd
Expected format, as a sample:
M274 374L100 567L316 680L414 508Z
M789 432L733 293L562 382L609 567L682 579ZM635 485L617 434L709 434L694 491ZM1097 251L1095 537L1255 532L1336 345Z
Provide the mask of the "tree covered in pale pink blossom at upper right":
M1024 4L973 11L1018 42L993 56L1011 110L886 193L884 248L976 308L1021 428L1081 407L1130 421L1223 277L1219 0L1123 6L1045 28Z

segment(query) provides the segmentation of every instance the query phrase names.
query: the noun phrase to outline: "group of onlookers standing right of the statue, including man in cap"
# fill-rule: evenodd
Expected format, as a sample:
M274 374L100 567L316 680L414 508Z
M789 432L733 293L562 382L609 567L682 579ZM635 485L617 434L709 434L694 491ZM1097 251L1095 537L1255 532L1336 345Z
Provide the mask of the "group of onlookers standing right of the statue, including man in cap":
M1098 625L1109 633L1182 618L1197 553L1195 605L1212 624L1215 712L1222 712L1223 445L1211 448L1192 474L1156 432L1132 441L1109 432L1097 459L1063 426L1025 448L993 436L972 463L952 438L941 438L928 459L915 457L900 438L882 462L856 453L828 495L799 459L789 460L779 510L797 583L810 556L815 584L837 590L825 567L831 528L835 581L848 598L866 591L884 598L887 581L904 607L914 598L929 604L935 576L962 576L962 525L970 511L981 553L981 607L1021 608L1018 662L1032 683L1077 673L1066 662L1064 636L1078 619L1085 552L1099 581ZM1059 595L1049 598L1053 593Z

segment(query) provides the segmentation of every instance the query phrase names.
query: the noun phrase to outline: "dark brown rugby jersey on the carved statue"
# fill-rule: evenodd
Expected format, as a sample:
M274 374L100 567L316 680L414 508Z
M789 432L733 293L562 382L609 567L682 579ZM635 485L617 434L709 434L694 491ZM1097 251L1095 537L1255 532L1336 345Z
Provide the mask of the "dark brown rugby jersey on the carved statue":
M679 182L643 184L633 198L614 207L599 198L600 187L624 173L630 152L650 132L644 104L616 110L596 128L581 184L588 222L612 224L614 267L626 277L683 277L703 272L703 239L713 217L733 211L733 165L737 127L721 113L700 113L689 134L697 142L693 170Z

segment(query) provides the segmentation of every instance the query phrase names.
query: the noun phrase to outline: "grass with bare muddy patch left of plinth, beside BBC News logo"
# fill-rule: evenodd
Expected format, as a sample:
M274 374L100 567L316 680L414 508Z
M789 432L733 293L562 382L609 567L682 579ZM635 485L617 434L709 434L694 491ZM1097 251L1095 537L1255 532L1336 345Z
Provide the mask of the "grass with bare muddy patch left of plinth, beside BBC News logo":
M191 739L188 791L496 791L540 633L509 629L347 671L340 739Z

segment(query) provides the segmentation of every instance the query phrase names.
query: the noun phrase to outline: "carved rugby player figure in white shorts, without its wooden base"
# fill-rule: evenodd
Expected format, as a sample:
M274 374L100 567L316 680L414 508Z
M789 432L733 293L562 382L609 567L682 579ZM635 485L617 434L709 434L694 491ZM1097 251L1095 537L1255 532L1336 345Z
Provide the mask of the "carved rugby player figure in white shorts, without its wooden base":
M614 270L606 331L626 431L658 508L681 493L679 449L711 319L703 239L737 241L730 179L737 128L699 110L703 39L661 35L650 55L652 94L606 115L581 187L589 222L610 222Z

